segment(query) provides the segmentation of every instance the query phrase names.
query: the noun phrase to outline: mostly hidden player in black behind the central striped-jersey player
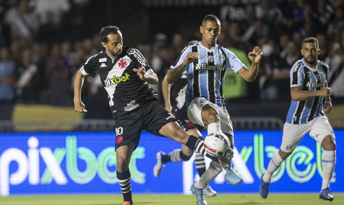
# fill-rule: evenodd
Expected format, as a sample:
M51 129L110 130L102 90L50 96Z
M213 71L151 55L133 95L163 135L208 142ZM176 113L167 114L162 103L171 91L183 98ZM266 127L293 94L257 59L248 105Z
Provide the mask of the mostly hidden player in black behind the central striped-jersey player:
M192 40L189 42L189 45L197 44L197 40ZM166 76L162 80L162 94L165 101L165 108L169 112L172 112L174 116L178 119L180 126L186 132L195 135L196 137L202 137L203 126L194 124L187 118L187 111L185 107L185 89L187 86L186 72L184 72L180 78L172 84L166 82ZM171 100L172 95L172 100ZM171 103L172 102L172 103ZM165 154L160 151L157 153L157 164L154 166L153 172L154 176L158 177L160 175L161 169L165 166L166 162L179 162L187 161L191 158L194 151L189 149L187 146L183 145L182 149L175 149L169 154ZM200 177L204 174L206 167L204 162L204 156L202 154L196 153L195 155L195 164ZM204 187L204 195L206 197L212 197L216 195L209 184Z

